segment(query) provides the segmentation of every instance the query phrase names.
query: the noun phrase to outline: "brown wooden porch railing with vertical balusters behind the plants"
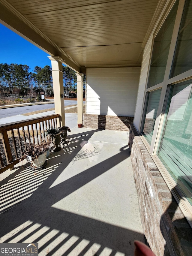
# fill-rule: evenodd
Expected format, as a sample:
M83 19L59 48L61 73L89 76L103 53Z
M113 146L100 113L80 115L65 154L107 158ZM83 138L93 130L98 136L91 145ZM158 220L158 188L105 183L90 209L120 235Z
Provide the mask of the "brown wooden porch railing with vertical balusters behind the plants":
M39 143L47 128L57 127L59 114L0 125L0 173L12 168L26 151L26 140ZM59 119L58 119L59 120ZM61 122L59 121L59 126Z

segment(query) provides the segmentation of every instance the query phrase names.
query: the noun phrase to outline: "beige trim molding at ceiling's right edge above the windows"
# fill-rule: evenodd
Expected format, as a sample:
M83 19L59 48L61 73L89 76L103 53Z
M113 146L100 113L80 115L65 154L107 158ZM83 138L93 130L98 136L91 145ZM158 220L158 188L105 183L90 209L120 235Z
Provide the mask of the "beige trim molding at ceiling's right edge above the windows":
M174 0L175 2L176 0ZM149 25L149 28L147 30L147 33L145 35L145 38L143 40L143 44L142 44L142 47L144 48L153 29L155 28L155 25L158 23L158 19L160 18L161 16L161 13L163 12L164 10L164 13L170 8L170 6L173 5L173 0L172 1L168 1L168 0L159 0L158 4L157 4L157 7L155 9L155 12L154 12L154 15L152 17L152 20L151 20L151 23Z

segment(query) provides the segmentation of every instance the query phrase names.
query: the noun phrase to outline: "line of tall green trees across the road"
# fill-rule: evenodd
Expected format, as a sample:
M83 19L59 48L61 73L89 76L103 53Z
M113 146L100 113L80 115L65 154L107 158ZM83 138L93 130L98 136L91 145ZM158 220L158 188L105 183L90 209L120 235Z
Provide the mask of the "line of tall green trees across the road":
M28 65L0 63L0 90L19 95L35 95L41 91L45 95L53 95L52 71L49 65L44 68L36 66L33 72L29 71ZM84 78L85 81L85 78ZM63 66L64 88L72 89L76 84L75 71Z

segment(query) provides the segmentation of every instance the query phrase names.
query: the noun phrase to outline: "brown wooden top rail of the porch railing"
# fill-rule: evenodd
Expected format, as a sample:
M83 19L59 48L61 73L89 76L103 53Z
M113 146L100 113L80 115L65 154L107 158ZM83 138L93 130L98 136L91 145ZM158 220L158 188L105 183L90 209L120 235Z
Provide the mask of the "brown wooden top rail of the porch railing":
M3 125L0 125L0 133L2 133L3 131L9 131L12 129L24 127L27 125L32 125L32 124L39 123L39 122L44 122L46 120L58 118L58 117L59 117L59 114L53 114L53 115L42 116L42 117L38 117L38 118L27 119L25 121L17 121L17 123L12 122L12 123L8 123L8 124L3 124Z

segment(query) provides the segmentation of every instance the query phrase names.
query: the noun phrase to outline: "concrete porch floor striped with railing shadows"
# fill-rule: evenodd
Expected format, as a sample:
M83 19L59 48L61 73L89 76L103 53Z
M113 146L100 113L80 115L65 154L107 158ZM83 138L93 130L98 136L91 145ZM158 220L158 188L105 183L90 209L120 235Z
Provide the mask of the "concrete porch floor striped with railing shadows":
M0 175L0 242L38 243L39 255L134 255L144 235L128 133L74 127L67 142L35 175Z

